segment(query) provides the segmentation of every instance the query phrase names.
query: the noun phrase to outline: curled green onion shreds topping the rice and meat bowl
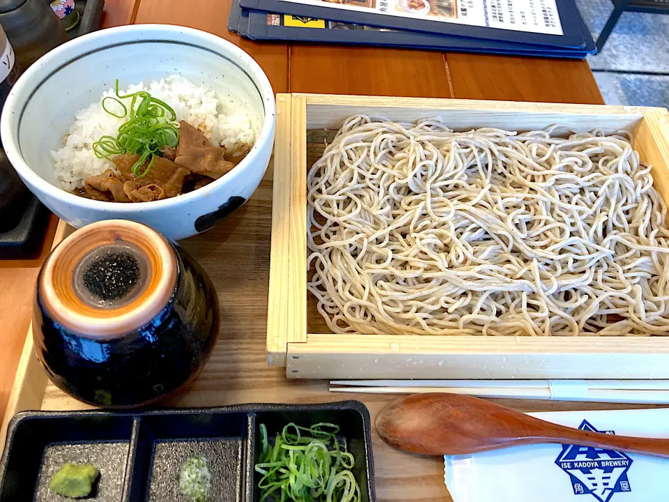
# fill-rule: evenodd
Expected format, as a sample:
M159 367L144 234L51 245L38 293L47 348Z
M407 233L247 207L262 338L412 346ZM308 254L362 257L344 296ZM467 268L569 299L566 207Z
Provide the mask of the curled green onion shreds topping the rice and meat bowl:
M144 178L155 162L155 156L164 146L176 148L179 144L179 128L176 122L176 113L166 102L153 98L147 91L121 96L118 92L116 80L116 97L106 96L102 100L102 109L118 119L130 119L118 128L118 136L102 136L93 143L93 152L98 158L109 158L120 153L137 153L139 160L132 165L132 172ZM121 100L130 99L130 109ZM110 109L110 102L115 102L114 109ZM123 114L116 110L118 105ZM141 168L148 166L142 172Z

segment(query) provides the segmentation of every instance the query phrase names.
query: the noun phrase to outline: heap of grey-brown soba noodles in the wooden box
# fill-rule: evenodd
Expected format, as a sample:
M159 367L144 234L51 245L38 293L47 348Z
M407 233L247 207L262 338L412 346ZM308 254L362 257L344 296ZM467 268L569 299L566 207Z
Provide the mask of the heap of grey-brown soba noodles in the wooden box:
M666 335L667 207L626 132L352 116L307 177L334 333Z

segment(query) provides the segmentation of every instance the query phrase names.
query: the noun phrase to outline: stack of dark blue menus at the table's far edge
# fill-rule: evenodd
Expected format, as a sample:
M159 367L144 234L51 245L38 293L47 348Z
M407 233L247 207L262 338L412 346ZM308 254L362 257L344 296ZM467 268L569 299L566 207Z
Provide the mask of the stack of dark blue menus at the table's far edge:
M582 59L575 0L233 0L228 29L302 41Z

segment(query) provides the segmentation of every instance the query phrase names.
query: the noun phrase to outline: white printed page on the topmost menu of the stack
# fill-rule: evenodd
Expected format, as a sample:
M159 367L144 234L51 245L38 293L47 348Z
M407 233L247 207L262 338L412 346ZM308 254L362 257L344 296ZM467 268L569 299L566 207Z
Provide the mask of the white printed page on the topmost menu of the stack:
M319 7L562 35L555 0L282 0Z

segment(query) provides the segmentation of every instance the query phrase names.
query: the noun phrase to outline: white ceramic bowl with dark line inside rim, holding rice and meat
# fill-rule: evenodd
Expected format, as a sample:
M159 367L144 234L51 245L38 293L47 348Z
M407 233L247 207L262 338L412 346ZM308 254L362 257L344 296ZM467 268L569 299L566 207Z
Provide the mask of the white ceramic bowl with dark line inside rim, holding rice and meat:
M253 149L213 183L161 201L93 201L60 188L50 152L79 109L114 87L178 73L244 105L256 132ZM140 24L97 31L52 50L15 84L3 109L0 135L19 176L40 201L74 227L99 220L144 223L177 240L210 229L259 185L274 144L276 105L263 70L235 45L181 26Z

